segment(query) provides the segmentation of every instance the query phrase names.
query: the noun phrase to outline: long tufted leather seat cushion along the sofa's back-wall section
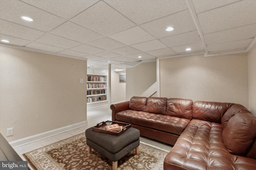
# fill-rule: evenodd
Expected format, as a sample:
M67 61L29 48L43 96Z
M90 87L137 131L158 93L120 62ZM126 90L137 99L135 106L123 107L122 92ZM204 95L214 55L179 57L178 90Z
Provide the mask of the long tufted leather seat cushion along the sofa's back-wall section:
M116 113L116 120L176 135L180 135L190 122L190 120L184 118L134 110L120 111Z

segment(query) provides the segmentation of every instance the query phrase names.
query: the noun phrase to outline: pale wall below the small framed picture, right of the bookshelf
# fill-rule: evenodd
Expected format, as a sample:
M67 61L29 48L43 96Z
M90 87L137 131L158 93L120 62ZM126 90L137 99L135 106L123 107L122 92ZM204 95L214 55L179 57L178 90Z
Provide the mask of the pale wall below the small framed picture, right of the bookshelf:
M126 83L119 82L119 73L111 71L111 103L125 101Z

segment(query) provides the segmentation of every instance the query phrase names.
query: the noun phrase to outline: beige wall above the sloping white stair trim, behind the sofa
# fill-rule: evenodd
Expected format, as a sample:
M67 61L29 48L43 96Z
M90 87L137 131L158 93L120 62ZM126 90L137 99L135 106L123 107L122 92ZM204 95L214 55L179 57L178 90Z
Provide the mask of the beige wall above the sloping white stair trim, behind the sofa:
M126 68L126 100L139 96L156 82L156 62Z

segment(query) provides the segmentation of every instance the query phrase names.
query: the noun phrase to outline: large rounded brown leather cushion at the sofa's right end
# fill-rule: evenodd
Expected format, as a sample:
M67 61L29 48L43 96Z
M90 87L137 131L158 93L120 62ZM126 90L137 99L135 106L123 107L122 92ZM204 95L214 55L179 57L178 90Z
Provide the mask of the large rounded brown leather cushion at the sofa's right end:
M222 132L225 147L232 154L244 156L256 137L256 117L249 112L232 116Z

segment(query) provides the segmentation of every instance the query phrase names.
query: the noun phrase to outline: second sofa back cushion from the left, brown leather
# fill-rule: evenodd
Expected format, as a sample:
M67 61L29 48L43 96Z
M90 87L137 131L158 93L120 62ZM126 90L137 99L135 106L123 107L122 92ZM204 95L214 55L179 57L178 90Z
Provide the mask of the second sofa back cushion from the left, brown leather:
M150 97L147 100L146 112L165 115L167 98Z

